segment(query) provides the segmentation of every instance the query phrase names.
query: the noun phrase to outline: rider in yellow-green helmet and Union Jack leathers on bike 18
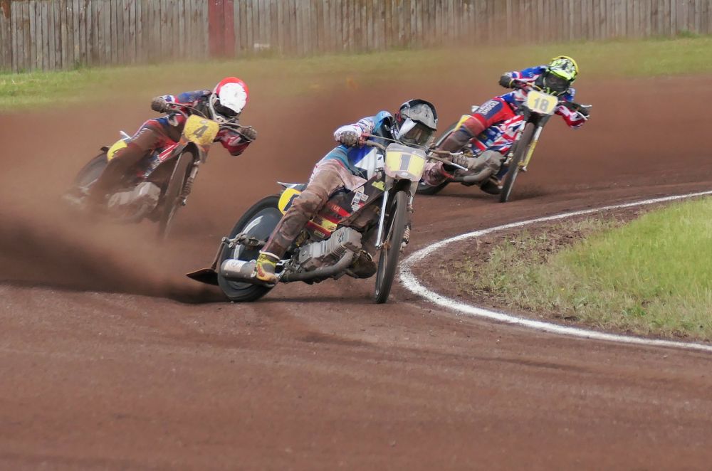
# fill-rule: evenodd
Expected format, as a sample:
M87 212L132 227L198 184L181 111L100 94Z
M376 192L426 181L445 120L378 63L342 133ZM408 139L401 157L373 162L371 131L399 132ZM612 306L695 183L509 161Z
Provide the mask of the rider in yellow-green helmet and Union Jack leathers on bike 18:
M480 188L486 193L498 194L501 190L498 176L506 172L506 168L501 168L503 156L509 152L523 120L520 106L526 100L528 89L521 88L520 83L534 85L535 89L559 97L560 105L555 113L560 115L567 125L577 129L588 120L590 114L590 105L572 105L576 90L570 85L576 79L578 71L575 60L567 55L559 55L548 65L537 65L519 72L503 74L499 85L515 90L484 102L476 112L461 122L437 149L456 152L471 142L476 154L473 159L475 162L470 160L467 165L463 165L458 157L454 157L453 162L466 166L468 171L472 172L489 169L491 176L483 181ZM426 171L423 181L436 186L451 177L448 166L436 164Z

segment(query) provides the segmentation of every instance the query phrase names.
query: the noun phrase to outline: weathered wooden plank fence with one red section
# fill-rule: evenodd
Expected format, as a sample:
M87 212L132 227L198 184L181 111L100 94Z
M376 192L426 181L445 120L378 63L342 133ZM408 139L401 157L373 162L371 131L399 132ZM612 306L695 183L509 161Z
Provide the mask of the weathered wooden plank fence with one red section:
M0 0L0 70L712 33L712 0Z

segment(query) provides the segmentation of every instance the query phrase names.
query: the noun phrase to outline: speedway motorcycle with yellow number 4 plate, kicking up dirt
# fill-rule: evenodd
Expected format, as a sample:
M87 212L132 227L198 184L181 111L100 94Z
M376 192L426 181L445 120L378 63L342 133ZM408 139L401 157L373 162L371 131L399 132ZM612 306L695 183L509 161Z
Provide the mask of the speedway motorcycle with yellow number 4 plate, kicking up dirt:
M112 189L104 208L108 216L124 223L138 223L144 219L158 223L160 239L167 238L178 208L186 205L198 169L206 162L211 144L220 129L231 129L238 133L246 129L236 123L211 120L194 107L180 107L192 110L192 114L187 115L179 107L174 107L175 112L187 117L179 141L154 152L150 159L142 161L135 173L125 175L122 183ZM116 152L127 147L130 136L125 132L121 134L121 139L111 147L101 147L101 153L78 172L64 196L71 206L86 208L91 186ZM135 203L125 205L127 207L120 206L117 203L121 198L129 198ZM120 207L121 211L112 210L116 207Z

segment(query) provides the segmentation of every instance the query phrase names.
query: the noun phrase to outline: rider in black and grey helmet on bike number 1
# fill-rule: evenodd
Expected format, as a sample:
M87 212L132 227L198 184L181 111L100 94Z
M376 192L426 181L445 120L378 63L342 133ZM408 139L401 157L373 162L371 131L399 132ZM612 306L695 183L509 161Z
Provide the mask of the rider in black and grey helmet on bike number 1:
M403 144L424 146L436 131L437 122L438 115L430 102L409 100L401 105L395 116L387 111L380 111L375 116L364 117L352 125L336 129L334 139L340 145L317 162L306 189L282 216L260 251L255 268L257 279L269 284L276 283L276 263L281 260L306 223L328 201L329 196L339 188L352 190L365 183L365 169L359 168L359 163L370 152L370 148L365 147L367 140L388 144L384 139L378 139L379 136ZM375 272L371 255L364 251L356 263L362 267L368 265L365 272L370 271L370 275ZM372 270L369 270L370 268Z

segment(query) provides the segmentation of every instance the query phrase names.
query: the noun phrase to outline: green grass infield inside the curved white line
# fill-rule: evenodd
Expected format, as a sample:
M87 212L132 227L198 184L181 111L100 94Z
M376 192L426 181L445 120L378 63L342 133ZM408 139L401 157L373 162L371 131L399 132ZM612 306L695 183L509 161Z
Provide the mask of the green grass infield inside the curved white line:
M619 226L619 227L618 227ZM562 248L550 234L588 235ZM464 290L511 307L602 329L712 340L712 199L676 203L620 226L587 220L521 233L474 272L449 272Z

